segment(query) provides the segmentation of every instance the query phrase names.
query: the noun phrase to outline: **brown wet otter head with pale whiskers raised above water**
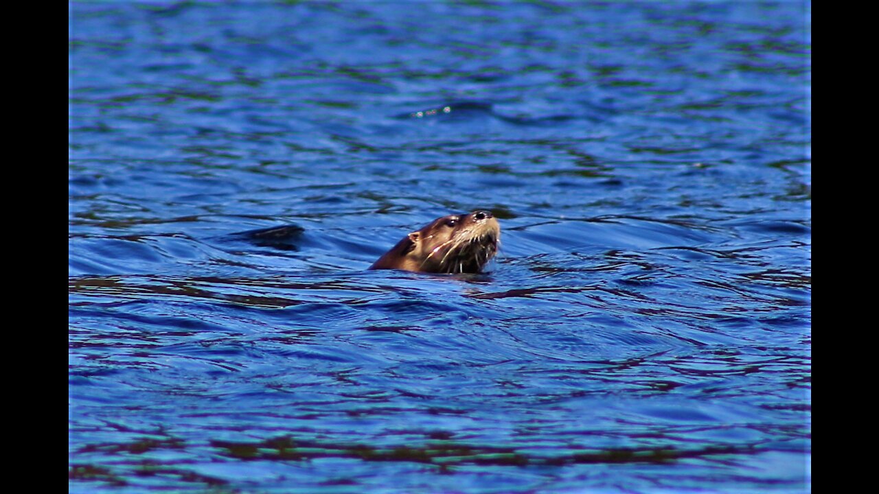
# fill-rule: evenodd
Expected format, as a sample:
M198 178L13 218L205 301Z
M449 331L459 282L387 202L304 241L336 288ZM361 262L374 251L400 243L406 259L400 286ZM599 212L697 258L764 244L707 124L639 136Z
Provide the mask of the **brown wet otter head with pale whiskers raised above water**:
M500 224L489 211L451 214L405 236L369 269L481 272L499 243Z

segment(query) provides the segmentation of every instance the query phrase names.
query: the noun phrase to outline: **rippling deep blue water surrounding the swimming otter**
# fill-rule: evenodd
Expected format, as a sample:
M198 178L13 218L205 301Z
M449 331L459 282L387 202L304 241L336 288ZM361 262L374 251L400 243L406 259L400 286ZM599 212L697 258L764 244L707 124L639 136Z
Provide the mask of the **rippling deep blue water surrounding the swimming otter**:
M810 490L810 4L89 2L69 38L71 492ZM486 273L367 271L475 209Z

